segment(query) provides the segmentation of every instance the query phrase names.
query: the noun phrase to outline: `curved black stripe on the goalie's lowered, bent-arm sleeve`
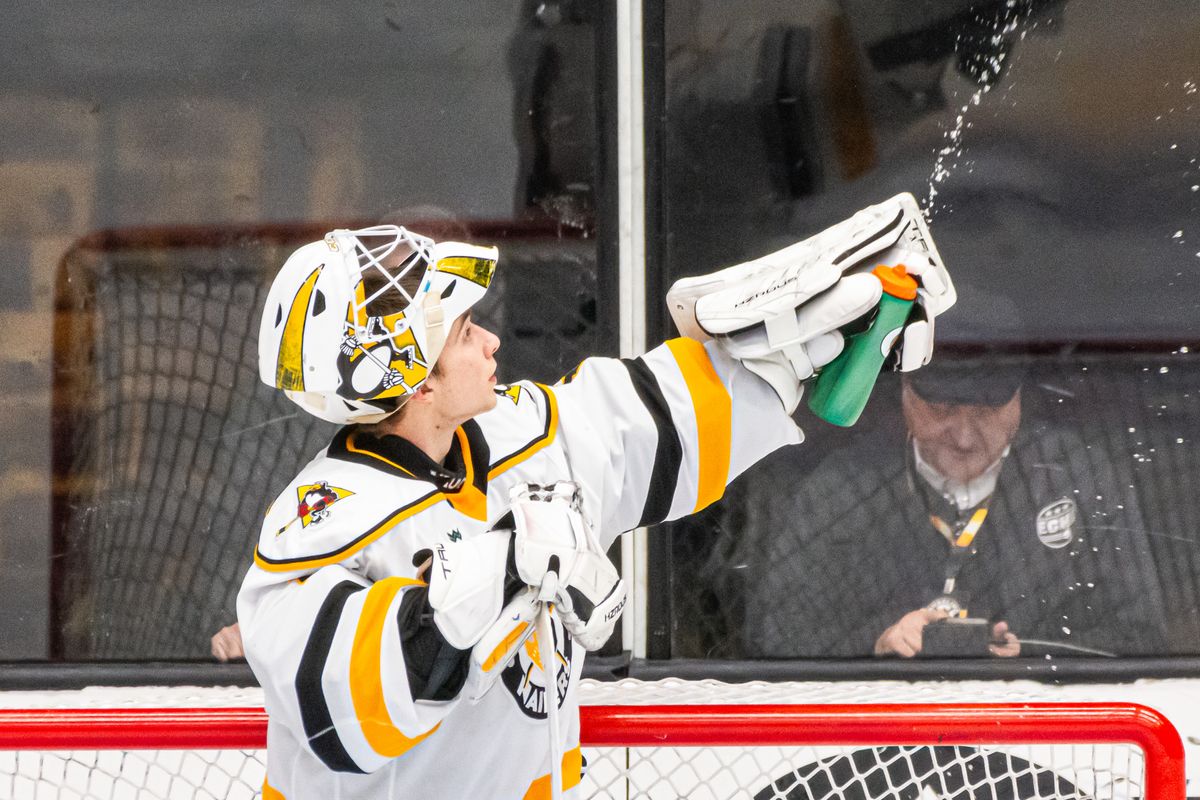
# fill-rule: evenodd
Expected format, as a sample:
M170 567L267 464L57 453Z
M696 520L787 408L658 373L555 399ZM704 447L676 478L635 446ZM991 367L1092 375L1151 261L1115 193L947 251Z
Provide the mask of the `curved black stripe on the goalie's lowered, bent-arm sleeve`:
M337 633L337 624L342 619L346 601L362 587L353 581L343 581L325 596L325 602L317 612L317 620L308 633L308 643L300 657L300 669L296 670L296 699L300 702L300 718L304 721L304 733L308 746L317 758L335 772L359 772L362 770L354 763L334 727L334 717L325 702L325 692L320 685L325 662L329 660L329 648Z

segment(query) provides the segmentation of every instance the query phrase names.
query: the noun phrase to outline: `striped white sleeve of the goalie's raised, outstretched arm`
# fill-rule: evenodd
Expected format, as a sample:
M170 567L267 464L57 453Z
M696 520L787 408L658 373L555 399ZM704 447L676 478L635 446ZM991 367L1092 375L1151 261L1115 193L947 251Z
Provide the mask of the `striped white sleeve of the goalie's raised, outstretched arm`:
M671 339L637 359L588 359L554 387L571 471L620 533L715 503L803 434L774 390L714 343Z

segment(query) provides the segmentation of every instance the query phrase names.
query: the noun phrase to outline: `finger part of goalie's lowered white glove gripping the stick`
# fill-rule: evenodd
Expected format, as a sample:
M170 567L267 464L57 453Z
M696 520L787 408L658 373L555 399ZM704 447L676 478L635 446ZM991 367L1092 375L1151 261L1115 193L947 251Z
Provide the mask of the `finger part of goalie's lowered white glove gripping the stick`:
M625 608L625 584L584 519L575 483L514 487L497 527L514 531L514 566L529 587L557 575L558 619L586 650L598 650Z

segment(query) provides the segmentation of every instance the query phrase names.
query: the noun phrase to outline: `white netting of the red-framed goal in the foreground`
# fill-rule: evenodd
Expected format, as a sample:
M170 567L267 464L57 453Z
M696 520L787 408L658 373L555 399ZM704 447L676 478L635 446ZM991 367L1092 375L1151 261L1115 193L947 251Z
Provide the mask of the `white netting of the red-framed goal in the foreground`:
M998 697L989 697L988 688ZM1046 699L1036 684L980 684L972 699ZM964 685L584 681L589 705L960 702ZM970 694L970 692L967 693ZM258 690L92 688L0 693L0 708L254 708ZM578 796L674 800L1133 798L1134 746L586 747ZM0 800L252 800L262 751L0 751Z

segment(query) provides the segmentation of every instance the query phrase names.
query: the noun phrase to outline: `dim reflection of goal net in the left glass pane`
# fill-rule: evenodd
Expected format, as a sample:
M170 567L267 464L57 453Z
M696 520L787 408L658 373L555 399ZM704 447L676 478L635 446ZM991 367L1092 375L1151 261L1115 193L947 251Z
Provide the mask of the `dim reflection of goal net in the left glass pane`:
M361 227L101 231L64 257L52 657L204 658L209 637L234 621L264 510L336 431L259 381L262 306L288 254L342 225ZM463 228L458 236L503 246L476 308L504 341L502 379L553 381L612 349L598 323L594 241L535 223ZM508 293L544 311L518 317Z

